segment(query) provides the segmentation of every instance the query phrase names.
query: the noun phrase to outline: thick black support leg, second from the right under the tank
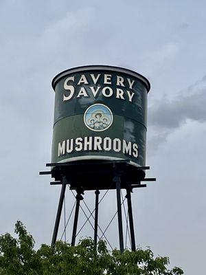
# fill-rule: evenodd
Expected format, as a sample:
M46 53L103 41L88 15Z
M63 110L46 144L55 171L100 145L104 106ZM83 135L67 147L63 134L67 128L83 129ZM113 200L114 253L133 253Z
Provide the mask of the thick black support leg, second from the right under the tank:
M119 249L121 252L124 251L124 240L123 240L123 228L122 228L122 206L121 206L121 179L119 174L115 175L114 181L116 182L117 189L117 214L118 214L118 226L119 226Z

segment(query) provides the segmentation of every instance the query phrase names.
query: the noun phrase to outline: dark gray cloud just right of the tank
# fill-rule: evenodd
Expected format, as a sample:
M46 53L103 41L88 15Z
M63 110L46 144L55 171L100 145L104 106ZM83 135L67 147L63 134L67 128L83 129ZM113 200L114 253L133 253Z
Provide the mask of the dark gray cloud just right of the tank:
M201 88L198 85L202 85ZM193 94L186 89L184 95L174 100L163 98L159 104L152 106L149 124L161 129L176 129L187 119L205 122L206 120L206 79L205 76L196 85L191 86ZM188 91L188 94L187 94Z

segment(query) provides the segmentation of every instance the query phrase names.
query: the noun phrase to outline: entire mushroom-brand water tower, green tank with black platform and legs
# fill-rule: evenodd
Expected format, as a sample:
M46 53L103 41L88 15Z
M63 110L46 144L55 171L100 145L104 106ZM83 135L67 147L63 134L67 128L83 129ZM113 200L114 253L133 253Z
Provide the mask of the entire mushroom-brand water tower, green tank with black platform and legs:
M80 201L95 192L94 241L98 237L101 190L116 190L119 248L124 250L121 189L126 189L131 249L135 230L131 192L145 187L148 80L122 67L90 65L67 69L52 80L55 91L52 184L60 184L60 200L52 245L56 242L67 184L76 190L71 245L75 245Z

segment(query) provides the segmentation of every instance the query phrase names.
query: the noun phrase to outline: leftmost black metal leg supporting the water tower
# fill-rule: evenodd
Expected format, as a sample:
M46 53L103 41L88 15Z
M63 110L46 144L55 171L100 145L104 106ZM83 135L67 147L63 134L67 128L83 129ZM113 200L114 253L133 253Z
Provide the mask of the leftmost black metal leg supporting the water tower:
M60 223L60 217L61 217L61 213L62 213L62 205L63 205L63 201L65 198L65 190L66 190L66 186L67 186L67 181L66 181L66 177L63 177L62 179L62 189L60 192L60 199L59 199L59 203L58 203L58 210L56 213L56 221L55 221L55 225L54 225L54 233L52 236L52 245L55 245L56 243L56 238L57 238L57 234L58 234L58 227L59 227L59 223Z

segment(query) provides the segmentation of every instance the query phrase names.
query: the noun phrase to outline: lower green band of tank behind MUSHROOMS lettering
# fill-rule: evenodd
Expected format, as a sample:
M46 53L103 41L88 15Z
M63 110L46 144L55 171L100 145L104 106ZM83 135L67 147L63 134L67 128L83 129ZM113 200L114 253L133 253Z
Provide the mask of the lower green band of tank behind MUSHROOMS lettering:
M84 147L84 137L87 137L87 146ZM100 146L95 148L97 137L102 138ZM104 140L106 137L106 140ZM76 140L82 138L78 144ZM91 146L89 147L89 139ZM111 140L109 140L111 139ZM115 140L115 145L114 145ZM104 156L120 159L130 159L139 166L145 166L146 129L142 124L133 120L124 119L119 115L113 118L113 125L104 132L94 132L85 125L82 115L72 115L54 125L52 162L63 162L65 159L85 159L90 156ZM136 148L133 148L137 144ZM64 146L65 148L62 148ZM76 148L79 151L76 151ZM138 152L138 153L137 153Z

